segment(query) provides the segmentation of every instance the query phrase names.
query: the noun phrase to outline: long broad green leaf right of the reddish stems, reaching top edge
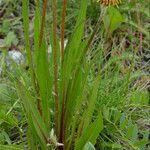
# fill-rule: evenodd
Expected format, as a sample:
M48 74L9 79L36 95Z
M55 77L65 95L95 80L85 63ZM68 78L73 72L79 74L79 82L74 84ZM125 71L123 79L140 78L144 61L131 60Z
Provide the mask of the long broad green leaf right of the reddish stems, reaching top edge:
M82 100L81 95L83 95L83 82L84 79L86 79L86 76L83 79L83 70L85 68L83 68L81 63L79 63L79 60L81 55L86 55L85 53L83 54L85 43L82 42L82 36L84 33L87 5L88 0L82 0L80 2L78 19L73 34L65 48L64 62L63 66L61 67L60 87L63 89L63 92L60 91L59 98L61 101L62 99L65 99L66 101L66 114L64 118L66 118L65 122L68 126L70 126L70 122L73 122L72 120L74 118L74 112L78 109L78 105L80 105L78 101Z

